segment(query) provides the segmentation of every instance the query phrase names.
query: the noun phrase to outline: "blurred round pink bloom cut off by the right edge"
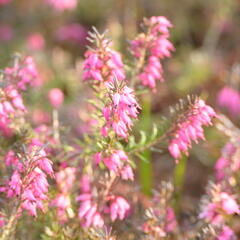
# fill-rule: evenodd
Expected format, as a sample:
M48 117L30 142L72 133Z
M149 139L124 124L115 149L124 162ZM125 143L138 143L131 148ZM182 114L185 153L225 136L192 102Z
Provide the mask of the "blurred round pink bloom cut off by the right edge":
M240 113L240 93L225 86L218 93L217 104L226 108L232 116L237 116Z

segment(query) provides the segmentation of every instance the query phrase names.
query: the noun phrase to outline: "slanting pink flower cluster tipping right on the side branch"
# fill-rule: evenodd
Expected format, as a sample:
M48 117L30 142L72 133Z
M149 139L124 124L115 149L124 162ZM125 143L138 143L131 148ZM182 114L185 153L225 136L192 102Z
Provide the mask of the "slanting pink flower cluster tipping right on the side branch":
M214 110L203 100L196 99L182 118L176 124L173 130L168 150L176 161L181 153L188 155L188 149L191 142L198 142L198 139L204 139L203 126L212 124L212 118L216 117Z

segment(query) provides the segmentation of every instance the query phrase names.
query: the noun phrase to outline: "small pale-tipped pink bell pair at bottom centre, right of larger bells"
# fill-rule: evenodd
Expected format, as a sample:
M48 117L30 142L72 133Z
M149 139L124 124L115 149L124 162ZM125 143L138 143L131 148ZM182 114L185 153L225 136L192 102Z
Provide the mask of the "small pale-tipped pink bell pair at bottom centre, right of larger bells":
M110 203L111 220L114 222L117 218L123 220L129 213L130 205L120 196L112 196Z

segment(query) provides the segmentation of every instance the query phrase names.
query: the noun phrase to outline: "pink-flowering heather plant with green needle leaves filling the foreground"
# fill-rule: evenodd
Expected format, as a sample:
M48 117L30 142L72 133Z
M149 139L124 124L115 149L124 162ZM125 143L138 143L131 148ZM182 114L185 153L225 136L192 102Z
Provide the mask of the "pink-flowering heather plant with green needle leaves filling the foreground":
M57 11L77 5L47 2ZM169 106L165 116L151 121L151 130L139 123L147 117L146 96L162 90L164 61L175 50L166 17L144 18L141 27L128 55L114 49L106 32L89 32L81 76L74 72L87 94L78 136L60 120L64 88L47 91L50 121L34 121L29 114L34 111L26 104L29 91L44 85L33 57L15 56L13 65L2 70L0 240L22 239L18 232L27 221L37 232L29 239L237 239L239 129L216 113L204 95L186 95ZM72 38L80 41L78 35ZM40 35L29 41L35 50L44 47ZM218 101L235 113L231 92L225 87ZM209 126L228 140L198 209L183 221L180 198L187 159L193 144L207 142ZM171 181L148 191L138 181L139 164L150 161L146 151L159 157L164 152L175 166Z

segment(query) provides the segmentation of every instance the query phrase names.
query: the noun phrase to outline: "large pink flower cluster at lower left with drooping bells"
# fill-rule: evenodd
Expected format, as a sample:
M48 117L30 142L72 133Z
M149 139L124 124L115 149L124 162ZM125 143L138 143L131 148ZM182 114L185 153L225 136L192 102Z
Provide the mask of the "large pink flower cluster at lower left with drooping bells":
M6 165L12 167L13 173L0 191L5 192L8 198L19 199L18 214L27 210L36 216L37 209L44 210L43 200L47 199L47 175L54 177L52 162L37 139L32 139L28 152L24 150L19 154L10 150L6 155Z

